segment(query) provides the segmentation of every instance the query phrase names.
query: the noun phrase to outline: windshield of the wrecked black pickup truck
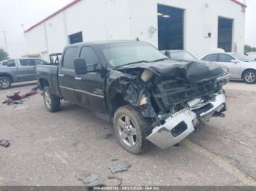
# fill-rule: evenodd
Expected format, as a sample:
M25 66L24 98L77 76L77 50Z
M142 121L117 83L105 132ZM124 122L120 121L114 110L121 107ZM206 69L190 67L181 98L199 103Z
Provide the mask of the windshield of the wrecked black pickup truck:
M162 52L146 42L121 42L100 46L108 62L115 67L132 63L167 59Z

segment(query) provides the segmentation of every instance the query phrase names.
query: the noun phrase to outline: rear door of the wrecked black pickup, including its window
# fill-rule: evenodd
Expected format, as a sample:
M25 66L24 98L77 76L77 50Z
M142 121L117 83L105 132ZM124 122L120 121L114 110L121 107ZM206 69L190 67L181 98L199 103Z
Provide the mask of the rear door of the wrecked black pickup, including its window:
M78 47L67 47L59 66L59 87L61 95L67 101L77 104L75 93L74 59L78 57Z

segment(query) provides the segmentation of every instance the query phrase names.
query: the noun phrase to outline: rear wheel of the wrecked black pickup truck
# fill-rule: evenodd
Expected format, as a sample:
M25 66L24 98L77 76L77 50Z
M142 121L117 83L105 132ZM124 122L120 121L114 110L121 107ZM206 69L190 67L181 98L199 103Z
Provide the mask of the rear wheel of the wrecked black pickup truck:
M50 92L49 86L44 88L43 98L49 112L59 112L59 110L61 110L61 100Z

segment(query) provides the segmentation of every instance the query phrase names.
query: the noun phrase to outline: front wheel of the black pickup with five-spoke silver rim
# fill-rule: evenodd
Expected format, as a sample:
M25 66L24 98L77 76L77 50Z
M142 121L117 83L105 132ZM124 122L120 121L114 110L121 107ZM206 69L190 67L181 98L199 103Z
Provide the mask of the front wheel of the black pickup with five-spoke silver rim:
M128 152L145 151L151 142L146 137L151 133L151 122L131 105L122 106L114 115L114 129L118 141Z

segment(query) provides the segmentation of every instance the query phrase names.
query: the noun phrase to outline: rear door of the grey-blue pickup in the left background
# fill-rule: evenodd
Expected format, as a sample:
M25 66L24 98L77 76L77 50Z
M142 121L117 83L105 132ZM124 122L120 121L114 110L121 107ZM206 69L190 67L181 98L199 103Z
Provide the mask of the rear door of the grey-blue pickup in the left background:
M20 82L37 79L36 77L36 63L34 59L19 59L20 66L18 67L18 74Z

